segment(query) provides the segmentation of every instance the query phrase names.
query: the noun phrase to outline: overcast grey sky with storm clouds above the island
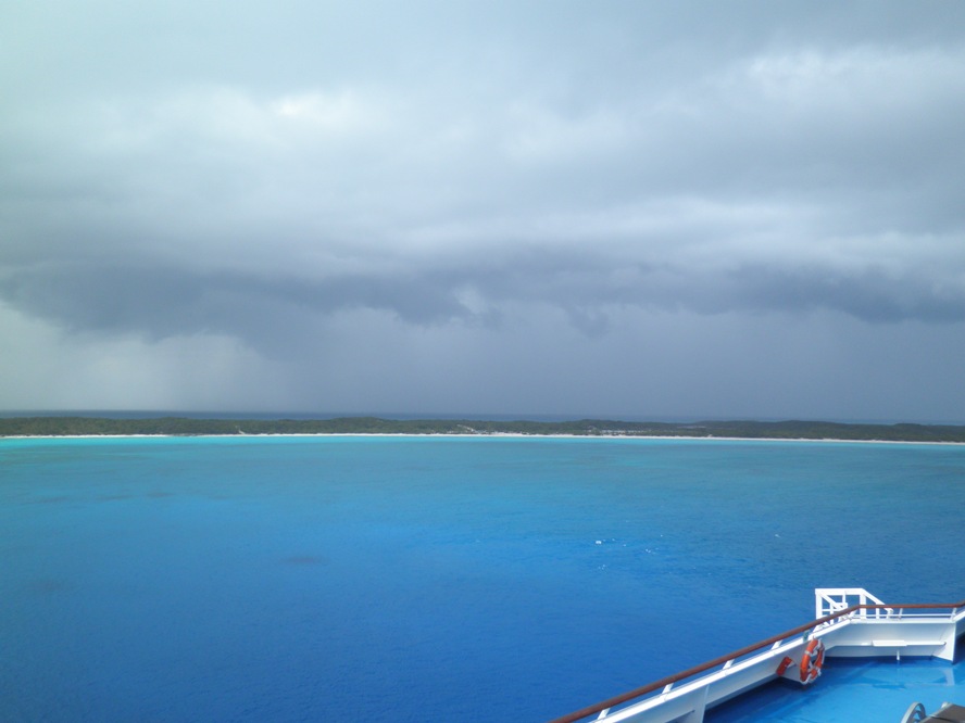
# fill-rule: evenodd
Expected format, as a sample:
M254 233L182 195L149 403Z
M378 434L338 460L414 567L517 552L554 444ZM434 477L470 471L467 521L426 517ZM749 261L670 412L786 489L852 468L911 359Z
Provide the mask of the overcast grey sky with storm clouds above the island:
M0 27L0 409L965 422L965 2Z

